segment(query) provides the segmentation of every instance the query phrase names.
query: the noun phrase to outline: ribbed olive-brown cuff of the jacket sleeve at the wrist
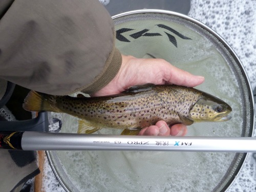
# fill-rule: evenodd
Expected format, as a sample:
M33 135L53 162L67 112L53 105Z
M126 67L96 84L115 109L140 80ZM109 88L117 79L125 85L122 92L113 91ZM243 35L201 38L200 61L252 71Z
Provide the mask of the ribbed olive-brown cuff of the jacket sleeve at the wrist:
M105 67L103 71L95 77L94 81L89 84L86 88L82 89L81 92L87 94L93 94L114 79L116 74L118 73L122 64L122 56L117 48L114 47L112 52L109 55L109 58L106 60Z

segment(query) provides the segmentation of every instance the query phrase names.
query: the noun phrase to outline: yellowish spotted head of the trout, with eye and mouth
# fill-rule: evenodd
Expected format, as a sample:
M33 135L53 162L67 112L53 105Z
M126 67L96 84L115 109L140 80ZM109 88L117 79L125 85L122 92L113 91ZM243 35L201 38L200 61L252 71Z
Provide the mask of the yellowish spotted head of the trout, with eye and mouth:
M227 121L231 107L219 98L211 95L201 97L190 109L189 119L194 122Z

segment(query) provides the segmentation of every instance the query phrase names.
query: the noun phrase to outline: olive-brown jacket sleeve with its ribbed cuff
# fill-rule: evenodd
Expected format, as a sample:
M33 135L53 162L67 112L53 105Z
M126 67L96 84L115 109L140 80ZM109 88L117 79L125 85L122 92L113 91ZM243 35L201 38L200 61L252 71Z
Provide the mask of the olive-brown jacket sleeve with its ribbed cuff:
M1 0L0 78L52 95L94 93L121 66L97 0Z

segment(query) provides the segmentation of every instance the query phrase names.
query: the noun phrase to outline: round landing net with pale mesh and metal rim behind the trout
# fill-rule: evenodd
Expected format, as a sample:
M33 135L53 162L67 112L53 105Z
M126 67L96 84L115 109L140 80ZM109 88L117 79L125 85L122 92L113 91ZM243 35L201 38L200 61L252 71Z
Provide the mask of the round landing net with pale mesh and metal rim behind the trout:
M205 82L197 89L232 107L231 120L195 123L188 126L187 136L251 136L254 119L248 79L221 37L196 20L174 13L133 13L114 21L116 46L122 54L163 58L202 75ZM61 116L61 132L76 133L77 119ZM120 130L98 133L120 134ZM246 154L58 151L48 156L70 191L222 191L238 173Z

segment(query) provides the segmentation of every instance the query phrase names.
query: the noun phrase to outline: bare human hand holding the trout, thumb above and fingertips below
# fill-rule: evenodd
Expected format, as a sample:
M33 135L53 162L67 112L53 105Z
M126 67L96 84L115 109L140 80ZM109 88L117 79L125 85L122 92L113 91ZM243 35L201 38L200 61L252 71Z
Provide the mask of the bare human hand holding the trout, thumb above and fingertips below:
M203 81L204 77L176 68L163 59L141 59L122 55L122 65L116 77L92 96L117 94L129 87L145 83L195 87ZM156 125L145 127L138 135L184 136L186 133L187 127L184 124L175 124L169 129L166 122L161 120Z

